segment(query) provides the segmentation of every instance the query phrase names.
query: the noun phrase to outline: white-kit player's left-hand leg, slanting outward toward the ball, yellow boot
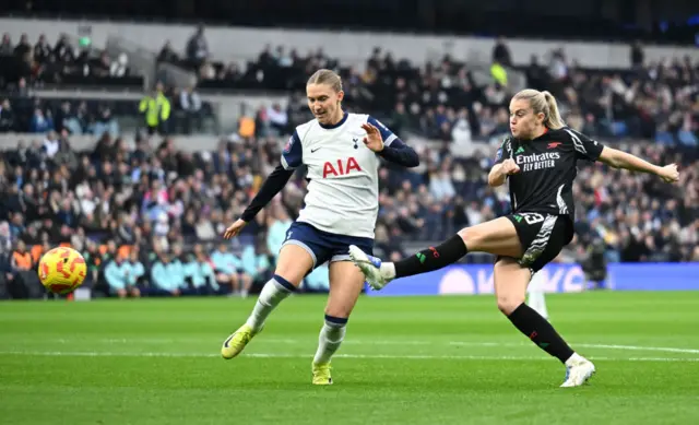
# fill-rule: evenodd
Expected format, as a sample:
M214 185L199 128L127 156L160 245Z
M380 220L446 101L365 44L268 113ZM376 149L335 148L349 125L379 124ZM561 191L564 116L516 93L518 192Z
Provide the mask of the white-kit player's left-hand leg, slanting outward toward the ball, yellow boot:
M242 352L250 340L262 330L272 310L296 291L312 267L313 259L304 248L297 245L286 245L282 248L274 278L264 284L248 320L223 342L223 358L229 359Z

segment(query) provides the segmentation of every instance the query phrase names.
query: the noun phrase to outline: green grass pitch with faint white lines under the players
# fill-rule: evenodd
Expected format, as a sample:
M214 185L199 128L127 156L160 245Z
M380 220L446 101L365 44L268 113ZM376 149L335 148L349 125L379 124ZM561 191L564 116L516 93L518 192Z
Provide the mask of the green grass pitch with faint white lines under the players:
M547 296L597 374L565 370L491 296L363 297L310 385L324 296L282 304L233 361L222 341L254 298L0 304L4 424L692 424L699 292Z

